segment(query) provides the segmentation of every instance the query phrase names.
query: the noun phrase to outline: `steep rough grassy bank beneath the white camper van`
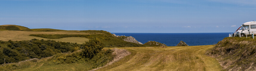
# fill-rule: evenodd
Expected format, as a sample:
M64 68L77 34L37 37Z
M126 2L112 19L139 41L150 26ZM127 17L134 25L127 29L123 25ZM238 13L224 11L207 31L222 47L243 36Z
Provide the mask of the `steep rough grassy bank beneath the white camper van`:
M229 71L256 70L256 40L253 38L224 38L206 54L216 58Z

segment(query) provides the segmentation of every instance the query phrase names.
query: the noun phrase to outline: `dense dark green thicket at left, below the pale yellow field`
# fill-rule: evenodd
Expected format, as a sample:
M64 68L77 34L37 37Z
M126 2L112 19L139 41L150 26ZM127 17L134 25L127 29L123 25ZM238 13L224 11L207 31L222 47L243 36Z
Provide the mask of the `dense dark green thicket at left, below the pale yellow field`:
M0 41L0 64L20 62L26 59L50 57L57 53L73 52L81 44L32 39L29 41Z

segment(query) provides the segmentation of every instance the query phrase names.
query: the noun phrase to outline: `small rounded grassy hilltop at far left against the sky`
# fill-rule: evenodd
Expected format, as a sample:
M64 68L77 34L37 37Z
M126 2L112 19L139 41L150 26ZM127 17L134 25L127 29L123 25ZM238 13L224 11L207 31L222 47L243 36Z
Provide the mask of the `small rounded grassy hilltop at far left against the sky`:
M19 25L0 25L3 30L28 30L29 28Z

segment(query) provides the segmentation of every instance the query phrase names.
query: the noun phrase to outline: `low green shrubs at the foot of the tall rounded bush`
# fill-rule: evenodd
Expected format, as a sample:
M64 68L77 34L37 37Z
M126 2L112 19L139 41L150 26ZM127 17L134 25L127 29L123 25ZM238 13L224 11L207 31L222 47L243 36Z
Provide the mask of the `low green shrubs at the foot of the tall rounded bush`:
M84 53L81 51L74 53L58 53L55 54L50 61L52 61L53 64L89 63L92 65L92 68L97 68L106 65L114 58L111 49L101 50L91 59L85 58L83 55Z

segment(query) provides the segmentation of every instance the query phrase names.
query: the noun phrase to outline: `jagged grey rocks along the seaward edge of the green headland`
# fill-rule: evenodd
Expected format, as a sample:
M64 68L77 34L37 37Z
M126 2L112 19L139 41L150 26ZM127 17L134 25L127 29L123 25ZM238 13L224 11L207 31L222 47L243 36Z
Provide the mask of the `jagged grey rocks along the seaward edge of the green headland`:
M136 40L135 38L133 38L132 36L124 36L124 35L118 36L118 35L115 35L115 34L113 34L113 36L118 37L118 38L123 38L123 40L124 40L124 41L127 41L127 42L137 43L137 44L143 44L143 43L137 41L137 40Z

